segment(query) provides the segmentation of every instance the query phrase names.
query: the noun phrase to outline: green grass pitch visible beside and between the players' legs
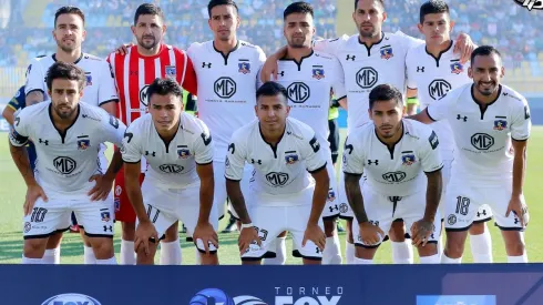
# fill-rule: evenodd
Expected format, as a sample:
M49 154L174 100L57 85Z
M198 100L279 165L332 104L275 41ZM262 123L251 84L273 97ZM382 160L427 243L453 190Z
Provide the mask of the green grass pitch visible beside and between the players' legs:
M342 138L345 131L342 131ZM531 222L526 230L526 247L531 262L543 262L543 241L537 237L537 232L542 232L543 225L540 222L543 216L543 206L539 205L537 197L541 195L537 190L537 174L543 172L543 128L533 128L532 138L529 144L529 164L526 184L524 187L526 201L530 207ZM17 171L9 154L7 133L0 134L0 264L18 264L21 262L22 251L22 204L25 194L24 183ZM489 222L492 233L494 261L504 263L506 261L505 251L501 234L493 222ZM225 220L221 228L225 226ZM115 252L120 252L120 224L116 224ZM182 234L183 264L194 264L195 251L192 243L185 242L185 235ZM239 252L237 250L237 233L219 234L221 264L239 264ZM345 252L345 235L340 234L341 248ZM300 260L290 257L291 242L287 240L287 264L300 264ZM62 243L63 264L82 264L83 246L79 234L64 234ZM416 255L417 256L417 255ZM117 256L119 257L119 256ZM157 255L158 257L158 255ZM471 262L469 243L464 262ZM391 263L390 243L385 243L378 251L377 263Z

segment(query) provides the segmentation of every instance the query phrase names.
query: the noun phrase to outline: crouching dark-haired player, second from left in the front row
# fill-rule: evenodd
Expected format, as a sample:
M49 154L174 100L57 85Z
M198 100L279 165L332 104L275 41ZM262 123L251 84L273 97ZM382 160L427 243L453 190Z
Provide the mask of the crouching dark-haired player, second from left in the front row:
M137 264L154 263L157 241L180 220L207 254L202 263L218 264L212 136L201 120L183 113L182 91L175 80L156 79L147 89L150 113L124 134L125 191L137 215ZM140 187L142 156L148 169Z

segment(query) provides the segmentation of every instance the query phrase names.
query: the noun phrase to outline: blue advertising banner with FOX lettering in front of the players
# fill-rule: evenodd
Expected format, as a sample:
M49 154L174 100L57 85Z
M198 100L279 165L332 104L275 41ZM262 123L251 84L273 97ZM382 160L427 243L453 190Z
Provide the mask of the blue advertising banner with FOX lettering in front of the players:
M1 265L0 304L531 305L543 264Z

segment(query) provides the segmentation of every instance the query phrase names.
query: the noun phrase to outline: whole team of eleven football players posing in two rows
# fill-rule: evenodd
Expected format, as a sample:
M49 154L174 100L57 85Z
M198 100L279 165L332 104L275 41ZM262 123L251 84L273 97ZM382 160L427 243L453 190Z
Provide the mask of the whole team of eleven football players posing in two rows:
M421 7L426 43L381 32L387 14L379 0L355 1L358 35L313 43L313 9L293 3L284 12L288 45L265 67L262 50L236 38L234 1L211 1L208 12L215 39L194 43L185 53L162 43L166 28L160 8L140 6L132 27L137 44L112 53L109 65L81 51L83 13L73 7L57 12L57 53L32 62L25 85L27 104L51 102L19 113L10 135L13 160L29 187L24 263L60 261L60 232L69 226L71 211L85 230L85 263L115 263L109 197L114 180L123 264L134 263L134 250L139 263L152 263L158 240L161 263L180 264L178 220L203 253L202 263L218 263L215 231L226 196L240 220L244 263L264 257L284 263L284 237L276 240L283 231L291 232L305 263L341 263L335 231L339 214L350 220L347 263L371 263L386 235L395 263L412 263L404 225L421 262L460 262L468 230L491 211L509 262L527 261L522 185L529 106L500 84L504 71L495 49L472 52L469 37L450 39L453 22L443 1ZM471 67L464 69L470 57ZM259 81L272 74L277 83ZM181 113L175 83L198 95L202 121ZM339 189L329 149L319 144L328 138L330 90L349 114ZM402 119L404 98L416 94L427 109L412 119L449 123L432 124L433 132ZM78 103L81 95L84 104ZM258 120L245 125L255 112ZM34 119L40 115L43 120ZM37 145L35 175L21 149L29 139ZM106 141L123 143L104 172L101 143ZM124 175L115 179L121 155ZM442 189L447 247L440 257ZM352 224L354 216L359 225ZM484 227L471 232L475 262L492 261Z

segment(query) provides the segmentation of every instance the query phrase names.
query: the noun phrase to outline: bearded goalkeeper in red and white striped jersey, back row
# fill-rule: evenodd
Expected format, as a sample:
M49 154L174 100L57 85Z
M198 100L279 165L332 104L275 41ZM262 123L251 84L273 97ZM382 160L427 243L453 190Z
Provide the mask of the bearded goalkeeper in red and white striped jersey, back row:
M193 64L183 50L163 42L166 32L164 22L164 13L160 7L141 4L135 11L134 26L131 27L137 44L127 48L125 52L111 53L107 58L121 99L119 118L126 125L146 112L147 88L156 78L171 78L196 95ZM143 181L145 160L141 164L140 180ZM121 264L133 265L136 215L124 190L123 172L115 179L115 220L122 222L123 230ZM161 264L181 264L177 222L166 231L166 237L161 243Z

